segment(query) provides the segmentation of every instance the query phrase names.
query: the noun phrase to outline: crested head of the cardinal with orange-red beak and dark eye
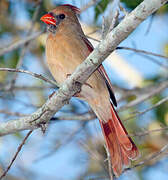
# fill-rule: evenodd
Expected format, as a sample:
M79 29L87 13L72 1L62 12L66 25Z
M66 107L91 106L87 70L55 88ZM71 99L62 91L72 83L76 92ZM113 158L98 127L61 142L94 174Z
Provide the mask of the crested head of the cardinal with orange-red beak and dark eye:
M57 27L62 22L76 21L76 14L79 13L79 8L69 4L64 4L61 6L57 6L54 10L42 16L40 20L47 24L48 30L50 32L55 32Z

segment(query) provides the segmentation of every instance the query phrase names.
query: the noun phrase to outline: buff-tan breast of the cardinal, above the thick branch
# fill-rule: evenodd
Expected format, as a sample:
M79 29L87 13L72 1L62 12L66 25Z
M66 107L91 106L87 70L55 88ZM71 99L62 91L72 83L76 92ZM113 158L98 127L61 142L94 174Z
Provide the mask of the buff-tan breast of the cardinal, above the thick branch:
M67 75L87 57L86 49L80 38L73 34L50 34L46 43L46 57L48 67L58 83L62 83Z

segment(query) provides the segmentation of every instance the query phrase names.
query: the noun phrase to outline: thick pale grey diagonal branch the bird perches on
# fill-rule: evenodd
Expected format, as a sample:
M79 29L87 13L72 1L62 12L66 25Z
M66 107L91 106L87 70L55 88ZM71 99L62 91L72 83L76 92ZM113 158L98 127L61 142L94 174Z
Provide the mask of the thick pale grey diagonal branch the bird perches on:
M77 92L81 85L96 70L102 61L126 39L129 34L149 15L164 5L168 0L144 0L121 23L107 34L94 51L80 64L74 73L63 83L59 90L33 114L0 124L0 136L25 129L38 128L48 123L53 115Z

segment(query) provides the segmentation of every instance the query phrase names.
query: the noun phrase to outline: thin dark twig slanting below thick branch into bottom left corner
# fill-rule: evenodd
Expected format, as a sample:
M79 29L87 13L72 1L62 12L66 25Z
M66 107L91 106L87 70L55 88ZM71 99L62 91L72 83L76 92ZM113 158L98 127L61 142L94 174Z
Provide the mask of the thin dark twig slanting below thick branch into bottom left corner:
M23 139L22 143L19 145L14 157L12 158L12 161L10 162L9 166L7 167L7 169L3 172L3 174L0 176L0 179L2 179L3 177L6 176L6 174L8 173L8 171L10 170L12 164L14 163L14 161L16 160L19 152L21 151L23 145L25 144L26 140L28 139L28 137L30 136L30 134L33 132L33 130L30 130L27 135L25 136L25 138Z

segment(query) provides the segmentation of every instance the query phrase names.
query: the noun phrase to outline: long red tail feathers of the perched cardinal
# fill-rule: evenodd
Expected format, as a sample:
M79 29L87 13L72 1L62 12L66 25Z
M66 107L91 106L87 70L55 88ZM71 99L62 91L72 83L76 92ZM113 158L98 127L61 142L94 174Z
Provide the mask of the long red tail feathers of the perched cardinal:
M112 117L107 123L100 121L100 124L111 156L114 174L119 176L123 167L129 165L130 159L136 159L139 152L132 139L128 136L113 105L111 105L111 114Z

